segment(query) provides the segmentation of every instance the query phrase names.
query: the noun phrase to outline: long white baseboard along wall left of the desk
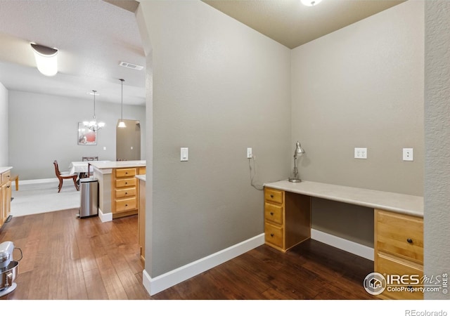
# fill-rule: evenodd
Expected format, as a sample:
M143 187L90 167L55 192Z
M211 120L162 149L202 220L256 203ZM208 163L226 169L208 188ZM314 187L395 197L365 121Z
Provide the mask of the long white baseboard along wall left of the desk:
M264 234L247 239L239 244L235 244L229 248L218 251L215 254L201 258L198 261L188 263L187 265L166 272L158 277L152 278L148 275L146 270L143 270L142 284L150 295L155 295L160 291L164 291L165 289L169 289L169 287L173 287L174 285L185 281L186 279L199 275L206 270L210 270L221 263L229 261L241 254L245 254L245 252L255 249L262 244L264 244Z

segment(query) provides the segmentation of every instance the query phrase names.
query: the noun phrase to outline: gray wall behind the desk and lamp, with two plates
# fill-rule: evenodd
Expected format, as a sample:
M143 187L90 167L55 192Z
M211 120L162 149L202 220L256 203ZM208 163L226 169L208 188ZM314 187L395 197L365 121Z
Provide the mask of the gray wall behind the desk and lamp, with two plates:
M291 143L307 152L302 179L423 195L423 46L423 2L406 1L293 49ZM354 159L354 147L368 159ZM312 206L313 228L373 246L372 209Z

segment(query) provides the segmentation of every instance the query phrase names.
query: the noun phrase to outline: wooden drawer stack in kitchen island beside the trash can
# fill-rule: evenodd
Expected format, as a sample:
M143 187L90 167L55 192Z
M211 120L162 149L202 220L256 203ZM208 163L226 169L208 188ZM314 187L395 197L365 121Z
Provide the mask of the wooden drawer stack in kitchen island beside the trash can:
M145 167L113 169L111 211L113 218L137 214L136 174L145 174Z

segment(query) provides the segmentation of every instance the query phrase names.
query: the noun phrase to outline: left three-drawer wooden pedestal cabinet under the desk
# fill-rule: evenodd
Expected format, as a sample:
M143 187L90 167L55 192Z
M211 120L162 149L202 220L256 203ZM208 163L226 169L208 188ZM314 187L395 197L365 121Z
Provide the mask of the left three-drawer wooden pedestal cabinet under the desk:
M310 197L264 188L264 239L287 251L311 237Z

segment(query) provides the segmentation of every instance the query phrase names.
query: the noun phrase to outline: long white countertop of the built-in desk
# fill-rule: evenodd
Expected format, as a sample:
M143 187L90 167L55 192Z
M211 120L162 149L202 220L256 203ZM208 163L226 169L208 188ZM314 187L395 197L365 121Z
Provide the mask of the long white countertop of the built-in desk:
M288 180L282 180L274 183L265 183L264 186L309 195L310 197L320 197L337 202L367 206L373 209L385 209L386 211L423 217L423 197L416 195L402 195L393 192L311 181L292 183Z

